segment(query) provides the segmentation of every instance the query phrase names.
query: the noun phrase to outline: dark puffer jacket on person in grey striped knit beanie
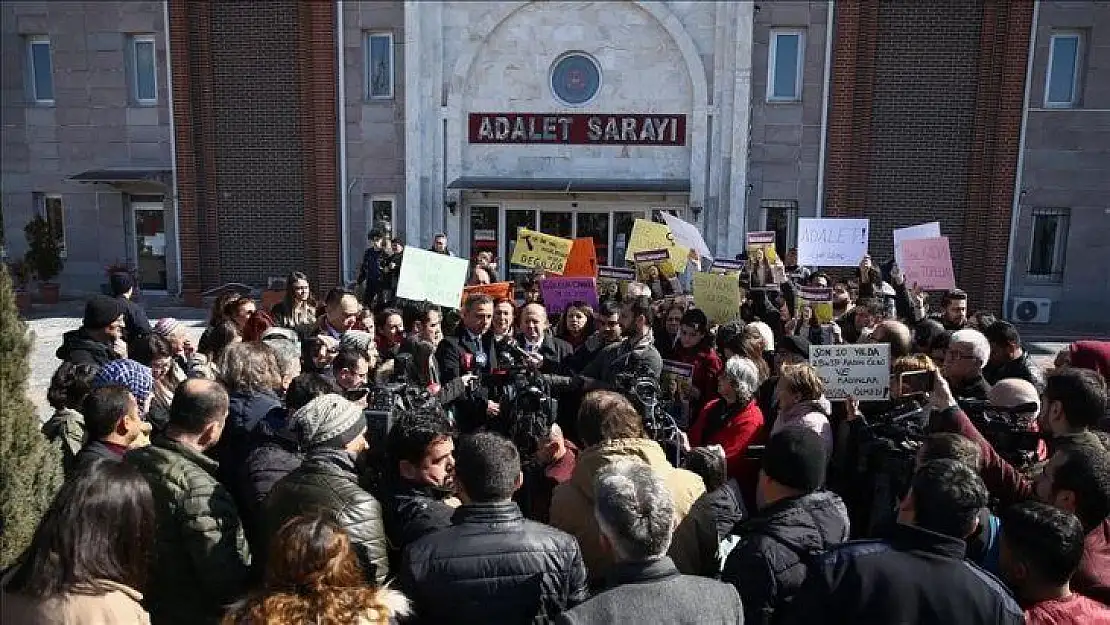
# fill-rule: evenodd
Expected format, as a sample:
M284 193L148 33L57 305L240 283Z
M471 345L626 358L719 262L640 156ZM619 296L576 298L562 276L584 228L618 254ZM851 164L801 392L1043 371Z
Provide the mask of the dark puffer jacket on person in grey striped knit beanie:
M333 516L351 538L367 581L384 584L390 565L382 505L359 485L354 458L345 451L311 450L301 466L274 484L261 523L264 540L290 518L313 512Z

